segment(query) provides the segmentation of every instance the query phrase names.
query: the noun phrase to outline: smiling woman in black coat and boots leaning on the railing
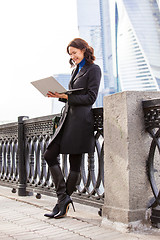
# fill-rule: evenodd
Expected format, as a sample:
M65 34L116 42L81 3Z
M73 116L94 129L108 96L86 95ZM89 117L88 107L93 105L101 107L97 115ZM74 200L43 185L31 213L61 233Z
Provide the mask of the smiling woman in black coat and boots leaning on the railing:
M75 38L67 46L70 64L75 66L69 83L69 89L78 89L71 94L48 92L48 97L59 98L66 102L59 127L44 154L52 175L58 202L51 214L46 217L60 218L66 215L70 198L75 190L80 173L83 153L92 153L95 148L94 118L92 105L96 101L101 70L94 64L94 50L86 41ZM69 154L70 173L65 182L57 156ZM74 208L74 206L73 206Z

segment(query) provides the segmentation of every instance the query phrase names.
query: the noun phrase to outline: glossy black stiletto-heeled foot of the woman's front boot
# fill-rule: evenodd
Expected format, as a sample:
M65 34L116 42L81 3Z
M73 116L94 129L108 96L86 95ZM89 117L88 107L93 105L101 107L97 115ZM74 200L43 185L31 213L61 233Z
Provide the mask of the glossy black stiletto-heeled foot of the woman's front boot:
M72 201L72 199L70 198L70 196L67 195L66 198L59 203L59 212L58 212L56 215L54 215L54 218L62 218L62 217L65 217L66 214L67 214L67 212L68 212L69 204L70 204L70 203L72 204L73 210L74 210L74 212L75 212L75 207L74 207L74 205L73 205L73 201Z

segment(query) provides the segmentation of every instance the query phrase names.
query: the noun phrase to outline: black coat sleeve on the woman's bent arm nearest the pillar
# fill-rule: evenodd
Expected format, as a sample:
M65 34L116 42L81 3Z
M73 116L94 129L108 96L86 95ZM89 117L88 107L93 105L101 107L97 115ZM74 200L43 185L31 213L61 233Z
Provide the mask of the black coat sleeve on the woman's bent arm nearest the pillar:
M101 79L101 70L98 65L91 68L88 73L88 84L86 94L68 95L68 105L93 105L96 101Z

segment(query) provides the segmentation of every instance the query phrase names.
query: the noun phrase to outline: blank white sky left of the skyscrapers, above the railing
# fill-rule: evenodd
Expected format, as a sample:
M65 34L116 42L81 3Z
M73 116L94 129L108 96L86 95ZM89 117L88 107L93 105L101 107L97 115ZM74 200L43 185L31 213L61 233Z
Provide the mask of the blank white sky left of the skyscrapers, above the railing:
M51 114L52 100L30 82L71 73L76 0L0 0L0 33L0 123Z

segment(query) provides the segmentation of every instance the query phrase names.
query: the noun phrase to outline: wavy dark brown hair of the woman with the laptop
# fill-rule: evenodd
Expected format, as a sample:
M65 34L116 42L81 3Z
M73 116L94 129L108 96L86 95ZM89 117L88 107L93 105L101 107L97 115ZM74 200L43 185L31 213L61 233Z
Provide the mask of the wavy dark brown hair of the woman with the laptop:
M67 53L69 54L69 47L78 48L80 50L84 49L84 57L87 64L92 64L96 59L94 56L94 49L88 45L88 43L82 38L74 38L67 46ZM70 58L69 63L73 67L74 61Z

